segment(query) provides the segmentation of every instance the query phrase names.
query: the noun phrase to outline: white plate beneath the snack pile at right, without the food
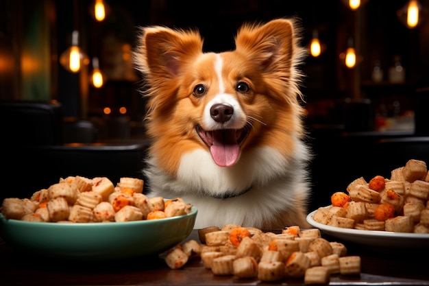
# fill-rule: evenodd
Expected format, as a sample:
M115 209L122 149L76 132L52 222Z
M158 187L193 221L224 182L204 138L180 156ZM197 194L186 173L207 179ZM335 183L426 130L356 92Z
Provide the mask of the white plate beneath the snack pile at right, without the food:
M365 246L377 246L382 248L416 249L429 247L429 235L421 233L392 233L379 230L358 230L350 228L338 228L327 226L312 219L316 211L307 215L307 222L324 233Z

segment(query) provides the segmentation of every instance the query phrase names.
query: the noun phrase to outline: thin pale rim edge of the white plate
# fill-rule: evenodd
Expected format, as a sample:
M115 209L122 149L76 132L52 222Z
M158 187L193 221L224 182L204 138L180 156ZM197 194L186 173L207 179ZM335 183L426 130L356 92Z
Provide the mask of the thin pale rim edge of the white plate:
M335 233L338 235L355 235L367 238L395 238L395 239L429 239L429 234L425 233L394 233L382 230L358 230L354 228L339 228L336 226L328 226L316 222L312 217L317 210L308 213L306 219L308 224L315 228L325 231L326 233Z

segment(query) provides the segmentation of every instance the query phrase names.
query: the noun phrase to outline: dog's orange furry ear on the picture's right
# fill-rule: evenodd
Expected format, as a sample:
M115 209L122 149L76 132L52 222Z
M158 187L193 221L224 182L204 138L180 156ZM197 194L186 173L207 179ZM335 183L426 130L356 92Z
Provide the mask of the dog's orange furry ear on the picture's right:
M275 19L265 25L243 25L235 38L236 51L258 62L263 72L291 71L293 61L301 57L294 22Z

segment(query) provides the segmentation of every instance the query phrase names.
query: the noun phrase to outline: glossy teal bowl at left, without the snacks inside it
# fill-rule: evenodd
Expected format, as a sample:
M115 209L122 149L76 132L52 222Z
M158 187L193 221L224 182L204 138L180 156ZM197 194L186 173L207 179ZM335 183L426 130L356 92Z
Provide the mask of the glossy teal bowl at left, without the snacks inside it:
M197 208L191 213L135 222L58 224L5 219L1 236L20 251L60 259L130 259L160 254L173 248L193 230Z

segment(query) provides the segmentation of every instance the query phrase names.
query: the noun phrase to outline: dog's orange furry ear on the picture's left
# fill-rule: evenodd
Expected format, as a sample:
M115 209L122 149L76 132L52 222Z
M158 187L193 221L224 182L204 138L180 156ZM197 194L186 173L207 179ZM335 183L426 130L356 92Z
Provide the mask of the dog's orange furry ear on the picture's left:
M202 53L203 40L197 31L143 27L133 58L136 69L147 76L174 78L188 60Z

